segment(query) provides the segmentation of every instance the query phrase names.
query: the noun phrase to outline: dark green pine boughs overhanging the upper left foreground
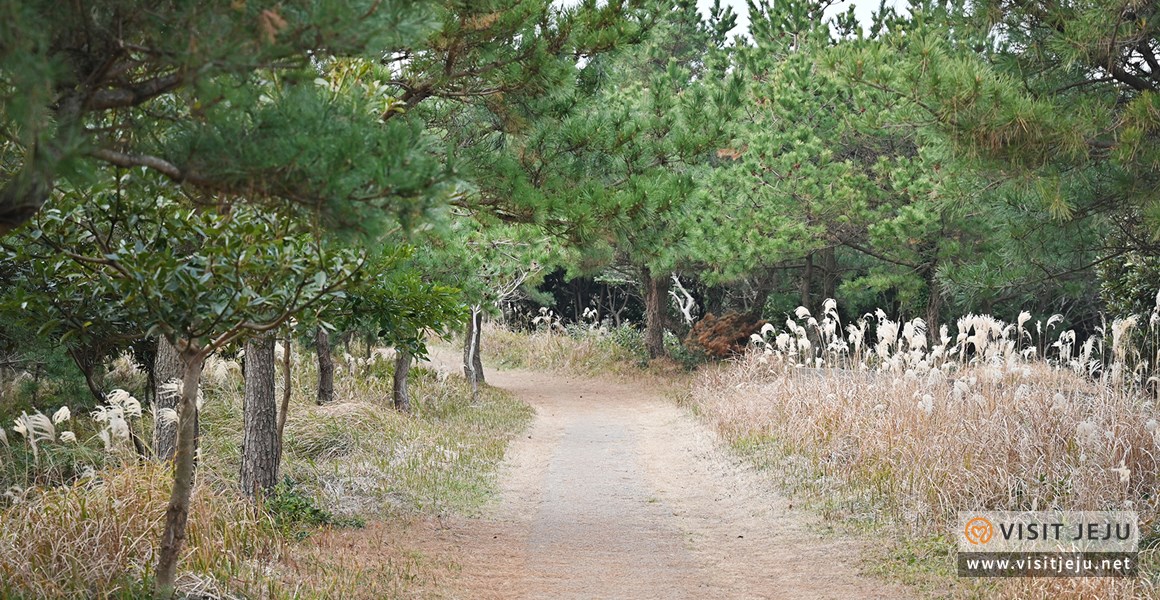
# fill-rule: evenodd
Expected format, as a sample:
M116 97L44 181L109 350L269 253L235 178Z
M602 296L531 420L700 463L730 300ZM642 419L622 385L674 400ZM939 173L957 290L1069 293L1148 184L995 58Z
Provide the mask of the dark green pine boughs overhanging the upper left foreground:
M332 58L409 45L425 17L401 0L3 0L0 234L101 165L327 216L425 195L437 165L419 131L313 82Z

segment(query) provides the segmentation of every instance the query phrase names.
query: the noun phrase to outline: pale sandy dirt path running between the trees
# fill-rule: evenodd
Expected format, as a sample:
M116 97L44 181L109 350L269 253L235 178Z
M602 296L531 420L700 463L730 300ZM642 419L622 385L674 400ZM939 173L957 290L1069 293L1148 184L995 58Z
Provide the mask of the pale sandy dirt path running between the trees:
M814 521L654 392L529 371L491 371L488 383L535 406L536 421L509 448L488 514L416 532L458 555L448 597L908 595L860 576L857 544L813 533Z

